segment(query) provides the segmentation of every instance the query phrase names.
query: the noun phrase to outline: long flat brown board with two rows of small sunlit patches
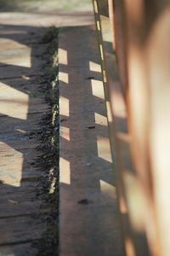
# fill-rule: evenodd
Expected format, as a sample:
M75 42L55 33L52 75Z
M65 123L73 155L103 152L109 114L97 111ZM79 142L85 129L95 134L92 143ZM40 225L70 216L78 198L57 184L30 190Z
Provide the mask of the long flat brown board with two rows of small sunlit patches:
M122 256L94 26L59 33L60 256Z

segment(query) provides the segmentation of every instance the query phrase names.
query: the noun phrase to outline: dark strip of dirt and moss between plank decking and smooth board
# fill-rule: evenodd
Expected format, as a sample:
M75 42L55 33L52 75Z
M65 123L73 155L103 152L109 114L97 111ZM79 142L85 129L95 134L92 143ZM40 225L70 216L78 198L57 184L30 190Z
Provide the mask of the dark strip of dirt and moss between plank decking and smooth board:
M37 184L37 198L42 207L47 208L40 216L47 224L47 230L40 240L33 242L38 248L37 256L57 256L59 243L59 88L58 88L58 29L44 29L39 44L45 44L41 76L41 93L48 102L48 111L42 114L40 129L35 136L41 153L35 160L35 166L42 170L42 178ZM34 135L31 135L34 136Z

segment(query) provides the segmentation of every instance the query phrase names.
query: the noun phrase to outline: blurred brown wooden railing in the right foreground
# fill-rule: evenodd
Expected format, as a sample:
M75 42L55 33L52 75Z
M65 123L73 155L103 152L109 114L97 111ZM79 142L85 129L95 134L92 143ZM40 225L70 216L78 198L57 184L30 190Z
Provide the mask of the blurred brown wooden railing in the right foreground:
M115 131L126 253L169 256L170 1L94 0L95 5L111 103L110 127ZM111 59L114 52L105 41L103 16L108 15L103 10L108 6L118 73Z

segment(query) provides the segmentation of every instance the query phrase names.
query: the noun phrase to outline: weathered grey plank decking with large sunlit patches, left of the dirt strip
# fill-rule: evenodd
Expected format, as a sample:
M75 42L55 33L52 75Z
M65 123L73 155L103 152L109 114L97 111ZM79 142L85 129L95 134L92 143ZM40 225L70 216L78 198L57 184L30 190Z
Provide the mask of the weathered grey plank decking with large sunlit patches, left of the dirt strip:
M0 16L0 23L5 23ZM28 21L28 20L27 20ZM11 20L11 24L13 21ZM3 25L0 31L0 255L37 255L32 247L47 230L47 204L37 197L42 168L35 166L36 132L50 110L42 90L42 54L37 26ZM34 41L32 41L34 39Z

